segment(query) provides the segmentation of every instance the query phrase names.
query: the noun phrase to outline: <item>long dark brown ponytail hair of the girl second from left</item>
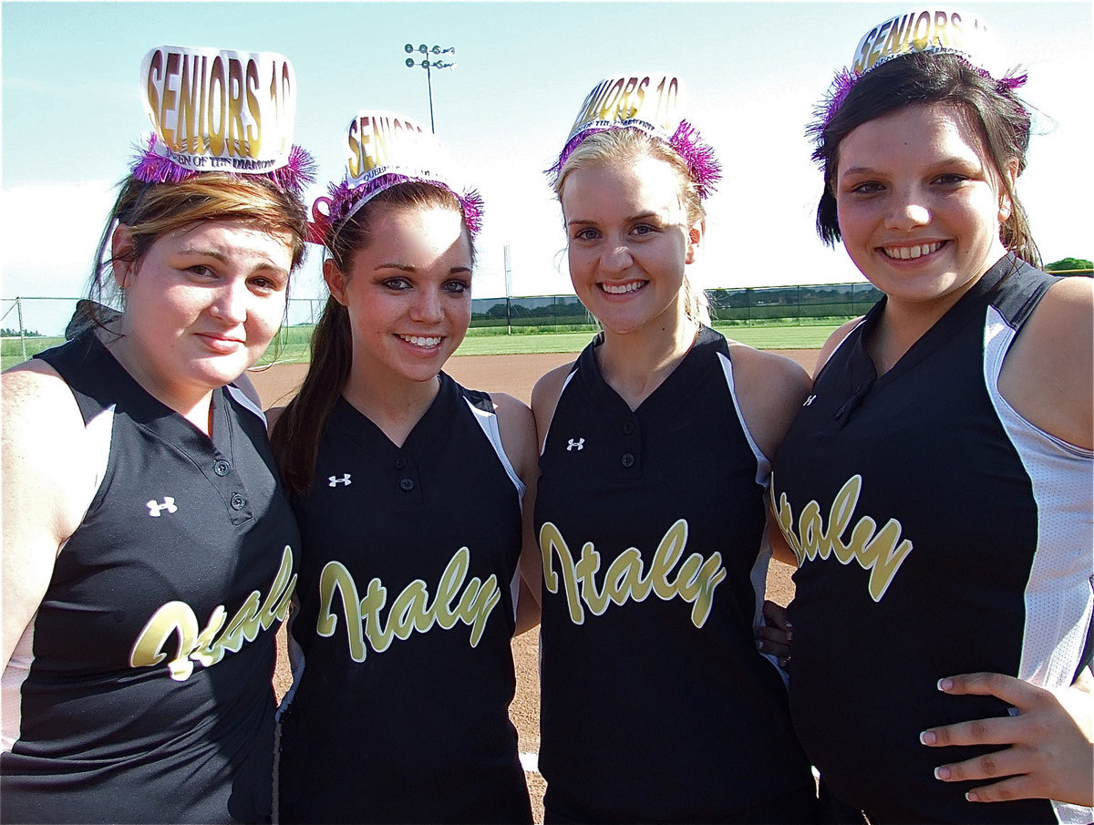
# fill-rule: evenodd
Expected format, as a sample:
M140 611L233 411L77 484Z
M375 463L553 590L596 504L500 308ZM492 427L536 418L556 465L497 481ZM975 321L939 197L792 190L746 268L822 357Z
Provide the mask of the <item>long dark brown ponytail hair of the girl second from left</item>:
M401 183L384 189L345 221L331 225L324 244L335 266L347 277L356 255L372 241L372 221L383 209L449 209L459 214L459 200L451 191L426 183ZM464 232L472 234L464 220ZM474 243L472 243L474 260ZM312 488L319 441L330 410L338 402L353 365L353 336L349 311L327 298L323 316L312 333L312 361L300 392L284 408L270 433L281 478L294 493Z

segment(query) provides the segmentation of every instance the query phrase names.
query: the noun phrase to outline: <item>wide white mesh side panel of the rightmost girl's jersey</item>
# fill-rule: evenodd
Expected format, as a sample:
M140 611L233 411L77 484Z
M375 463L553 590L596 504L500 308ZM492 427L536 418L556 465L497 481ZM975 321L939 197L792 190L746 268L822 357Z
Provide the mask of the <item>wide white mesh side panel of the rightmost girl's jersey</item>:
M1040 430L999 393L999 373L1015 332L988 307L984 372L988 395L1033 484L1037 548L1025 591L1019 677L1058 688L1071 684L1094 612L1094 451ZM1094 822L1094 809L1052 802L1061 823Z

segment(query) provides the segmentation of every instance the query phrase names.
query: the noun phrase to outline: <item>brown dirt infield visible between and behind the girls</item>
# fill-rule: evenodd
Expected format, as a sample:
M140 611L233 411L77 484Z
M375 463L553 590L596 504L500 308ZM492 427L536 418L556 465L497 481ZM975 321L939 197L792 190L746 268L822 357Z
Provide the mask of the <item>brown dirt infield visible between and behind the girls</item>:
M812 373L818 351L781 350ZM532 398L532 387L536 380L548 370L574 359L572 352L516 356L458 356L449 360L445 371L467 387L487 392L502 392L514 395L525 404ZM304 377L307 364L277 364L252 372L266 408L287 404ZM772 562L768 572L767 596L779 604L787 604L793 594L790 580L791 568L781 562ZM278 697L282 696L291 683L284 656L284 632L281 632L281 650L274 685ZM538 678L538 634L531 631L513 640L513 661L516 666L516 695L510 707L510 717L520 734L522 754L539 752L539 678ZM532 809L536 822L543 822L543 792L545 783L537 771L526 774L532 793Z

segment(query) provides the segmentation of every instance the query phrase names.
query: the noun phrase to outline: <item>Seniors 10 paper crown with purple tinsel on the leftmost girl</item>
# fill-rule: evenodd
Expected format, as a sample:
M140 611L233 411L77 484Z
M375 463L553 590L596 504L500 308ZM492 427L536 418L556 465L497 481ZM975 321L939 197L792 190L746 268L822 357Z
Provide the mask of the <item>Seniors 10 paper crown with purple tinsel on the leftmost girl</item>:
M160 46L140 77L152 135L132 163L139 181L229 172L300 195L314 179L314 161L292 142L296 75L281 55Z

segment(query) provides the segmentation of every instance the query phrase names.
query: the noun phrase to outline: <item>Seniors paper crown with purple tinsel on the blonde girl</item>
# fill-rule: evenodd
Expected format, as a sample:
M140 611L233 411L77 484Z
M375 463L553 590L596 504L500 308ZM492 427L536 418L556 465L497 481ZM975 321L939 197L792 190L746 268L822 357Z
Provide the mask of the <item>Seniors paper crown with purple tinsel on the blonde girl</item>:
M680 116L683 100L683 84L672 74L619 74L602 80L581 104L566 146L547 170L551 183L557 183L566 161L590 135L640 129L671 146L687 162L699 197L709 197L721 179L721 166L714 150Z

